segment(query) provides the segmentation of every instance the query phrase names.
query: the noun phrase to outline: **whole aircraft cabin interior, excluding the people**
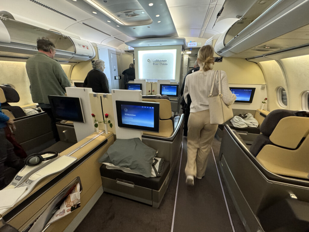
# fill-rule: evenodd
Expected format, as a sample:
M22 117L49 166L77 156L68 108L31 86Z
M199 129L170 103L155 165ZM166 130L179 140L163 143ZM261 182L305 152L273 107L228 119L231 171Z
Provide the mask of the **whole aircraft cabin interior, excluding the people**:
M0 157L0 231L309 231L308 9L309 0L0 0L0 110L22 161ZM55 45L71 85L48 96L56 132L26 70L38 38ZM184 78L204 45L236 101L205 176L188 186ZM97 59L106 93L84 85Z

